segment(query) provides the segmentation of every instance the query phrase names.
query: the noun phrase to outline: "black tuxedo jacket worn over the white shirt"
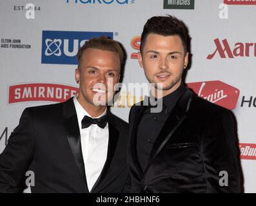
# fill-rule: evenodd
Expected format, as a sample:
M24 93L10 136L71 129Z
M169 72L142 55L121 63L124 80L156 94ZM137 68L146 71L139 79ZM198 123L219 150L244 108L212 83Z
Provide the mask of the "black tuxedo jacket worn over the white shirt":
M122 192L128 177L128 124L108 111L108 126L106 163L91 192ZM72 98L23 111L0 155L0 192L21 192L26 171L35 175L32 192L88 192Z

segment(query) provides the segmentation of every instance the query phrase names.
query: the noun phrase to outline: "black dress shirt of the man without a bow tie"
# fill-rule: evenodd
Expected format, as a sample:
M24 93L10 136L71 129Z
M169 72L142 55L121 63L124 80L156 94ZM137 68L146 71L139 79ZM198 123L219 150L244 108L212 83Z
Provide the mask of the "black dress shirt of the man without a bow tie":
M153 144L164 126L164 122L172 112L173 107L182 93L184 93L185 89L184 85L181 84L175 91L163 97L162 110L159 113L152 113L150 110L152 106L147 106L146 109L144 109L143 117L141 118L137 130L137 156L143 171L146 167L150 152L152 151ZM148 100L148 102L150 102L150 100Z

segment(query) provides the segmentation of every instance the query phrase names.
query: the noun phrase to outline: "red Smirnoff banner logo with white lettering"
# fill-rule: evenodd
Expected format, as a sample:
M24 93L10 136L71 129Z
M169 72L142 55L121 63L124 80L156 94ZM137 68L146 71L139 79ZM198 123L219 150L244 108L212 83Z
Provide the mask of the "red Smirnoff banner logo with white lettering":
M79 88L63 84L19 84L9 87L8 103L50 101L64 102L77 95Z

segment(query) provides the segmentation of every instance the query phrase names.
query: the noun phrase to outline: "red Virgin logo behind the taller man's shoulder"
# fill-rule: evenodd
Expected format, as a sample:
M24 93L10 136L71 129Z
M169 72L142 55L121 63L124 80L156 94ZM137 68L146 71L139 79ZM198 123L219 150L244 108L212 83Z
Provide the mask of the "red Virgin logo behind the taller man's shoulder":
M226 109L234 109L239 98L239 89L219 80L187 84L201 98Z

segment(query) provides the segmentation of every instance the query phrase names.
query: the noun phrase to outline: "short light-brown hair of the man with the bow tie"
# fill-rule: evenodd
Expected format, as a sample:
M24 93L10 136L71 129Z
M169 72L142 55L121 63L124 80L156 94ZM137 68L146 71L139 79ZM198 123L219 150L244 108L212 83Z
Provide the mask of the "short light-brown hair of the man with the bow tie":
M121 47L121 44L119 42L108 39L108 37L101 36L101 37L94 37L90 39L89 41L86 41L84 45L79 49L77 52L77 61L78 61L78 68L80 69L81 59L84 51L88 48L94 48L99 50L106 50L110 52L116 52L119 55L121 68L124 64L124 50Z

